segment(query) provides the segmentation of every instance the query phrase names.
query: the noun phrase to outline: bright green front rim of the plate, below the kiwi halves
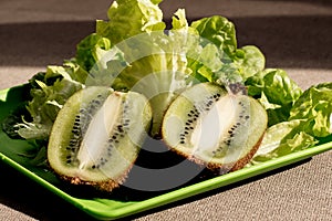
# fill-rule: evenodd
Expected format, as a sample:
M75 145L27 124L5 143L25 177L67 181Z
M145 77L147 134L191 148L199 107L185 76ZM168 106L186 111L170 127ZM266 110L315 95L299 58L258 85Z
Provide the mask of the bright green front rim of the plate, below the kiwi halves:
M204 193L217 188L221 188L261 173L266 173L268 171L272 171L274 169L302 161L304 159L311 158L314 155L322 154L324 151L329 151L332 149L332 141L325 143L322 145L318 145L304 150L299 150L295 152L291 152L289 155L274 158L264 162L260 162L258 165L253 165L251 167L242 168L237 171L232 171L229 173L225 173L221 176L217 176L180 189L173 190L170 192L166 192L143 201L136 201L128 206L120 207L104 211L96 211L95 208L90 207L86 204L86 201L94 201L93 199L81 199L75 198L68 192L63 191L62 189L55 187L53 183L46 181L45 179L41 178L37 173L32 172L31 170L27 169L24 166L20 165L15 160L11 159L10 157L6 156L0 150L0 158L1 161L8 164L12 168L19 170L24 176L29 177L37 183L41 185L43 188L55 193L58 197L66 200L68 202L74 204L76 208L81 209L83 212L96 218L96 219L118 219L124 218L131 214L135 214L138 212L143 212L153 208L157 208L170 202L175 202L185 198L189 198L199 193ZM112 199L106 199L112 200Z

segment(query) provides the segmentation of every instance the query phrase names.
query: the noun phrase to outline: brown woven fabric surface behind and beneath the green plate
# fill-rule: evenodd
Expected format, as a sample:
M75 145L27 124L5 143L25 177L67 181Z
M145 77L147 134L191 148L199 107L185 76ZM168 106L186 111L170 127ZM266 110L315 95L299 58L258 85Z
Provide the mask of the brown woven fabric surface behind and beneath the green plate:
M0 90L25 83L105 19L108 0L1 0ZM166 20L221 14L239 45L256 44L268 67L284 69L303 88L332 81L330 0L165 0ZM1 144L0 144L1 145ZM145 220L331 220L332 152L131 217ZM0 220L90 220L56 196L0 164Z

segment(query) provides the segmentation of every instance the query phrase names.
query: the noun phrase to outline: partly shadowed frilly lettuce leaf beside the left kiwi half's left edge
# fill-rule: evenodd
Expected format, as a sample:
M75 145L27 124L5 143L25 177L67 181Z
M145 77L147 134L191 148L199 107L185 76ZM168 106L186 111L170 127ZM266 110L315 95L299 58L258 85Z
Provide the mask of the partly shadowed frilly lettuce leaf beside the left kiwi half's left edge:
M27 110L32 120L23 118L15 125L17 133L25 139L48 139L62 105L73 93L83 88L80 81L85 78L85 74L68 62L65 66L49 66L45 73L30 80L31 101L27 104Z

